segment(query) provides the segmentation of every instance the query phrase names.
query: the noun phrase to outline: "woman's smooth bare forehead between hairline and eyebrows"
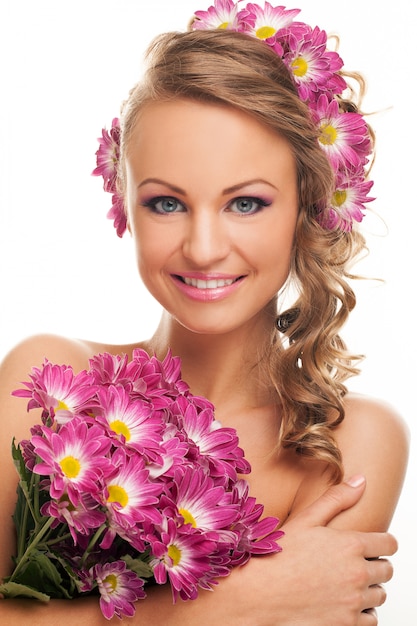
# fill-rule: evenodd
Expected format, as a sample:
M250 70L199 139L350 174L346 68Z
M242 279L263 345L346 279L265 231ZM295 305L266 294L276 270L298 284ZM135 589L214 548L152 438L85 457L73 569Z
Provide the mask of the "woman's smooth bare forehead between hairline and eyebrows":
M188 176L253 177L260 170L276 175L295 168L287 140L249 114L185 99L146 104L127 148L128 166L144 175L186 168Z

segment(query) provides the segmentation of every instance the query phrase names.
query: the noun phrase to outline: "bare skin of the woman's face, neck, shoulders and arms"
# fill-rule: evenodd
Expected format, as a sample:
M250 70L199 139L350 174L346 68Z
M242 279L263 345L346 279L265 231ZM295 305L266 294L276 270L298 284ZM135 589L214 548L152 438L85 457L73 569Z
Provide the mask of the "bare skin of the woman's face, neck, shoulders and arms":
M349 396L335 435L346 477L355 478L329 489L321 463L275 450L280 407L260 384L258 355L268 341L275 295L288 275L297 216L289 145L230 108L153 103L138 118L126 171L138 268L165 310L154 336L144 342L109 346L41 336L22 342L5 359L0 576L7 575L13 552L17 477L10 442L27 437L39 419L10 392L45 357L78 371L97 352L131 356L142 347L163 358L170 348L181 357L192 392L208 397L223 425L237 429L252 465L251 492L266 515L279 517L286 535L282 553L251 559L214 593L202 592L198 600L173 608L170 590L154 588L126 621L374 626L375 613L363 611L384 602L381 584L392 576L388 561L374 559L397 549L385 531L406 469L404 423L379 401ZM107 623L94 599L53 601L48 607L0 602L2 623L26 624L28 615L33 625Z

